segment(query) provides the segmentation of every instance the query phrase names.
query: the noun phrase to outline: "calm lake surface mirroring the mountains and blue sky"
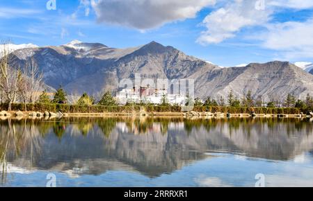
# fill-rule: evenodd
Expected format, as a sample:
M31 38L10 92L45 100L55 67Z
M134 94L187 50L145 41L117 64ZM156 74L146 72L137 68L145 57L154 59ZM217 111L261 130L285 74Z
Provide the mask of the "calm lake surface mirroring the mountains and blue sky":
M313 186L313 122L2 119L0 157L0 186Z

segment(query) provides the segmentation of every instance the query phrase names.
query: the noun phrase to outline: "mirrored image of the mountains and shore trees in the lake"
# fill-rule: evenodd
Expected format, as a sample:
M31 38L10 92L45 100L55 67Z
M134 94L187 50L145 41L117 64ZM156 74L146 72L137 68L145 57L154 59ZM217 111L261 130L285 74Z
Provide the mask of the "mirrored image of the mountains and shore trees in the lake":
M1 121L0 129L1 159L15 166L94 175L130 170L155 177L210 151L287 160L313 149L312 123L296 119Z

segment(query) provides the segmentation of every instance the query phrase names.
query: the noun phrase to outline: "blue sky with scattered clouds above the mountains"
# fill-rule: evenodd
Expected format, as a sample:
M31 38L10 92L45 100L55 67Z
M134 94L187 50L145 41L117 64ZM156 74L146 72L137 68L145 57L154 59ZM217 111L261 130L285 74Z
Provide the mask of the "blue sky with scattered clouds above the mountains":
M313 62L312 0L55 0L47 10L48 1L1 1L0 39L118 48L154 40L227 67Z

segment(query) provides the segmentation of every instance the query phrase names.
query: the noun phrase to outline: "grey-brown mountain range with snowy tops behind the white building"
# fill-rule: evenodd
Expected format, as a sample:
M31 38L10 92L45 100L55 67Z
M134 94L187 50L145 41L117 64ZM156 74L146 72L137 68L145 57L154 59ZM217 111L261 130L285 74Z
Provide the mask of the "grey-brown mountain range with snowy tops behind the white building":
M287 94L298 98L313 95L313 75L307 72L313 69L310 63L300 62L297 67L274 61L223 68L157 42L116 49L74 40L62 46L30 46L12 54L11 63L16 67L33 57L44 73L45 84L54 89L62 85L70 94L118 90L120 80L140 73L142 78L192 78L195 96L200 98L226 97L230 90L239 98L250 90L255 98L264 100Z

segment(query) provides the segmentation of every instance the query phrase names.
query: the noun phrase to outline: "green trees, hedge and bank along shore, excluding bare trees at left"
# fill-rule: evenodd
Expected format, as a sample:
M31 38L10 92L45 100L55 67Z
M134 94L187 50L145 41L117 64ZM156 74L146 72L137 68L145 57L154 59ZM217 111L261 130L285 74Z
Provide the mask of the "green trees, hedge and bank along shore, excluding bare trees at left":
M271 101L265 104L261 103L261 100L254 100L250 91L241 100L230 91L226 100L222 97L218 101L210 97L204 101L199 98L194 100L189 98L183 106L169 104L166 96L158 105L151 103L118 105L111 91L104 92L98 101L93 96L84 93L74 104L67 104L67 94L62 87L54 93L53 98L50 97L47 91L42 91L35 103L1 103L0 116L84 116L88 114L90 116L100 114L110 116L313 116L313 98L310 94L307 94L306 100L296 100L293 95L288 94L284 101ZM7 110L8 108L10 110Z

